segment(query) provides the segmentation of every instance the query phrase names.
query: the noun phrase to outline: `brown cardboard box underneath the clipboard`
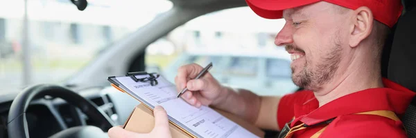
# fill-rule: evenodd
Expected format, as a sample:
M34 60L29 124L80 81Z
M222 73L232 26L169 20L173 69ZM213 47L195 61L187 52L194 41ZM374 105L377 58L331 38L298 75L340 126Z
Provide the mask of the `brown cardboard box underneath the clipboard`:
M222 110L216 110L221 115L227 117L228 119L236 122L236 124L239 124L243 128L249 130L254 135L257 135L259 137L264 137L264 132L257 128L256 126L244 121L243 119L240 119L239 117L236 117L235 115L230 114L229 112L224 112ZM130 130L133 132L141 132L146 133L153 130L153 127L155 126L155 117L153 117L153 111L146 108L146 106L139 104L136 106L136 108L133 110L130 117L128 117L127 121L125 121L125 124L123 128L125 130ZM187 132L184 132L180 128L177 128L173 124L169 124L169 127L171 129L172 137L191 137L191 135L187 134Z

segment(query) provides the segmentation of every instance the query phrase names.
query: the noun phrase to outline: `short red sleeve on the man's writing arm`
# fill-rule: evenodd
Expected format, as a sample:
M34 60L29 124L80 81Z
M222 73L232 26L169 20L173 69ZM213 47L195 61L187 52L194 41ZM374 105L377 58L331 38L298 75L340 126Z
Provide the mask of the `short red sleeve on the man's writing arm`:
M279 106L277 106L277 125L279 129L284 127L284 124L288 123L295 116L295 104L305 103L306 101L315 97L312 91L302 90L293 94L285 95L281 97Z

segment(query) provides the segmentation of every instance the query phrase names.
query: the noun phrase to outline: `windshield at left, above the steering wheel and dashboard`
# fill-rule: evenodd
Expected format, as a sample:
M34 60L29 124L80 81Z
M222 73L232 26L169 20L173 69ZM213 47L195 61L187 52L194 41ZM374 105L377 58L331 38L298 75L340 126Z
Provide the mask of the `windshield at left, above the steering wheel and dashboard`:
M170 8L166 0L88 0L79 11L70 0L28 0L25 21L24 0L0 1L0 92L60 83Z

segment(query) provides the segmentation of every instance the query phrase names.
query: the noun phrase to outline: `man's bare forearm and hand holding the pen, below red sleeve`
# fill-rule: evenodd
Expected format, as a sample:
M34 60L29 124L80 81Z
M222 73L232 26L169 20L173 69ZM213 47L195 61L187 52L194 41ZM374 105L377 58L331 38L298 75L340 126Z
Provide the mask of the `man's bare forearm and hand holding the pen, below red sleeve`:
M200 79L193 79L201 70L203 68L196 63L177 70L177 91L180 92L185 86L188 88L182 95L185 101L196 107L211 105L231 112L261 128L279 129L276 119L279 97L259 97L250 90L221 86L209 72Z

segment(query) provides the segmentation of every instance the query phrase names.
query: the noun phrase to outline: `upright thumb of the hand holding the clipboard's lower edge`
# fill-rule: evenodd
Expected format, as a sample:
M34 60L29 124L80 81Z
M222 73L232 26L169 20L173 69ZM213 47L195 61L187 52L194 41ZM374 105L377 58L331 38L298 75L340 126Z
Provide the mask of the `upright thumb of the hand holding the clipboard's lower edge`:
M153 110L153 115L155 116L155 128L153 130L169 128L168 115L162 106L156 106Z

